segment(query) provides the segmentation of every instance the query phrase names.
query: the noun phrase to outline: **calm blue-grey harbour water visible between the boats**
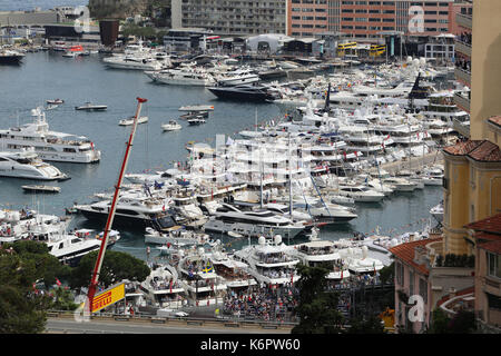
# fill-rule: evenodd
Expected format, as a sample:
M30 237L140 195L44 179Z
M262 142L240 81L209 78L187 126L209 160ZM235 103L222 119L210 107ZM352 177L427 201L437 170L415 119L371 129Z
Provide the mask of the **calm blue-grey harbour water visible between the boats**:
M0 66L0 128L28 122L32 108L45 105L47 99L61 98L65 105L47 111L50 129L87 136L101 150L102 159L96 165L53 164L71 176L70 180L57 184L61 187L58 195L26 194L21 186L32 181L0 178L1 207L30 206L57 215L63 215L65 207L70 207L73 201L90 201L92 194L110 190L116 182L130 134L130 127L120 127L118 121L135 113L136 97L148 99L141 116L148 116L149 122L138 126L129 172L165 169L171 167L173 161L185 160L185 144L189 140L214 144L216 134L235 138L235 132L253 127L256 107L259 122L279 115L273 103L226 102L216 99L205 88L154 85L140 71L107 69L97 55L70 59L60 53L27 53L20 67ZM86 101L107 105L108 110L75 110L75 106ZM183 130L161 131L161 123L179 116L180 106L196 103L214 105L215 110L206 125L189 127L181 121ZM343 227L322 230L321 236L336 239L354 231L371 233L376 226L381 227L381 234L419 230L430 218L430 208L441 199L441 187L426 187L412 194L393 195L381 204L361 204L357 205L357 219ZM82 217L76 217L73 225L102 228ZM122 239L114 248L145 257L143 235L122 233ZM223 240L226 241L225 238ZM245 243L234 243L233 247L238 248Z

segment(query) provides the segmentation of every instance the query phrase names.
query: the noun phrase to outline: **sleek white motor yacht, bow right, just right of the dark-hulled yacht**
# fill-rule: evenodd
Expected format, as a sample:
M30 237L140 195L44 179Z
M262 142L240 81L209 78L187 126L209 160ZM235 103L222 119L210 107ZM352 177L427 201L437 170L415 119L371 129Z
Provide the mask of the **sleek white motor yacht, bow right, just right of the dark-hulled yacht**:
M209 220L204 225L206 231L228 234L230 231L243 236L274 236L279 234L294 238L305 229L303 222L291 219L269 210L242 211L236 207L223 202Z

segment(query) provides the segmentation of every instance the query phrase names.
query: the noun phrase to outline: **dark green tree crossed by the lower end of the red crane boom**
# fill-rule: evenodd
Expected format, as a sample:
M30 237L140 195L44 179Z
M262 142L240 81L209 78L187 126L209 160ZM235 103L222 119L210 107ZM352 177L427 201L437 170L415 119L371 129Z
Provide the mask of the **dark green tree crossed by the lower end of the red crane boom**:
M96 265L98 251L87 254L71 270L71 288L88 287ZM124 279L143 281L150 274L144 260L120 251L106 251L99 274L99 284L105 288Z

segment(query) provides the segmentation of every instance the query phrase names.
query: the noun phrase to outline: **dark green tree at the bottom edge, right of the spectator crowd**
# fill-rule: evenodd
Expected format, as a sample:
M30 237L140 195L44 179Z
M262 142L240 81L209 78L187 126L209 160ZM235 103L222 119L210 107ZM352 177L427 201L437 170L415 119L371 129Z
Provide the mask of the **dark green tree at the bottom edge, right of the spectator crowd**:
M299 315L299 324L293 334L335 334L341 332L343 316L337 310L338 297L335 293L325 291L328 269L298 265L301 279L299 304L295 312Z

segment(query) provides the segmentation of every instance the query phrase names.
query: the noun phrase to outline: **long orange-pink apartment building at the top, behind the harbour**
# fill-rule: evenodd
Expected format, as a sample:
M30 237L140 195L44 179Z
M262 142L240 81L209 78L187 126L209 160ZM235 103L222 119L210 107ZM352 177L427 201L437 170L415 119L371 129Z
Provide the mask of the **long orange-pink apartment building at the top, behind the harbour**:
M455 29L454 0L287 0L289 36L328 31L354 38L380 38L382 31L428 37ZM459 10L458 10L459 9ZM326 13L326 16L325 16ZM325 19L326 18L326 19Z

